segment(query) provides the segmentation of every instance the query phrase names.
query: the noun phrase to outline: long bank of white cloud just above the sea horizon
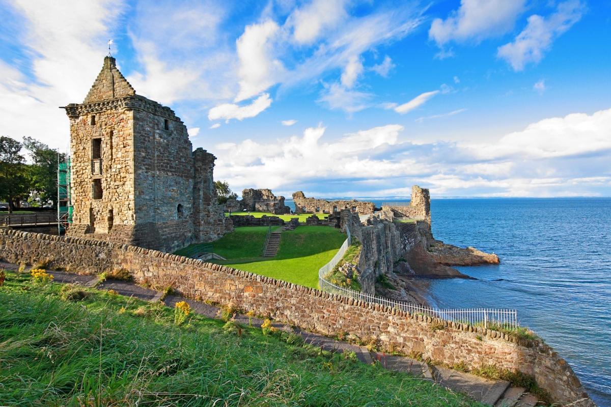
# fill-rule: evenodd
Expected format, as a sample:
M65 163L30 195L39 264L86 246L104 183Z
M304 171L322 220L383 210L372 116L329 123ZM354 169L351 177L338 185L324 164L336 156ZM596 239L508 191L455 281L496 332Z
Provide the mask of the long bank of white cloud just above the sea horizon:
M215 174L236 189L289 195L409 196L414 183L437 196L611 193L611 109L541 120L478 144L416 145L403 130L389 124L328 140L320 125L271 143L221 143Z

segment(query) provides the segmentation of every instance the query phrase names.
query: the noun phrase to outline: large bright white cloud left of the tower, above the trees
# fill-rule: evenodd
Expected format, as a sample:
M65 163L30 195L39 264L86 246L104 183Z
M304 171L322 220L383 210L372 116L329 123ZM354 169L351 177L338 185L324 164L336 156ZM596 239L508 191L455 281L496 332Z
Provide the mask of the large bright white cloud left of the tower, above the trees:
M121 1L15 1L12 37L27 58L23 73L0 60L0 132L67 149L69 121L57 109L81 103L102 68ZM27 67L27 68L24 68Z

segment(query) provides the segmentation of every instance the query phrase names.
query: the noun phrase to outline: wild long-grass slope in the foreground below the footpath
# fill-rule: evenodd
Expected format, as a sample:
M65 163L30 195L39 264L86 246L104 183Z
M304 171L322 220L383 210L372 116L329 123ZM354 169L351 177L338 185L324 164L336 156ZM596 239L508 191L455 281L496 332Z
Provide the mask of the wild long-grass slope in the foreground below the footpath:
M163 306L94 289L69 303L58 297L58 284L32 289L26 277L7 274L0 287L2 405L481 406L258 329L238 337L200 315L178 328Z

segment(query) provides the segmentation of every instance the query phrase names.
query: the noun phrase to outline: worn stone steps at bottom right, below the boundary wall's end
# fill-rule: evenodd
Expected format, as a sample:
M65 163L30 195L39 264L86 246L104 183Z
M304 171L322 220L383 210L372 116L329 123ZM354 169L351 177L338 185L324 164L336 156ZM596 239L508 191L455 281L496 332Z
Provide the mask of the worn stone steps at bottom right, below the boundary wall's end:
M523 387L510 386L508 381L486 380L441 366L431 366L431 370L437 383L489 406L534 407L537 403L535 396L527 393Z

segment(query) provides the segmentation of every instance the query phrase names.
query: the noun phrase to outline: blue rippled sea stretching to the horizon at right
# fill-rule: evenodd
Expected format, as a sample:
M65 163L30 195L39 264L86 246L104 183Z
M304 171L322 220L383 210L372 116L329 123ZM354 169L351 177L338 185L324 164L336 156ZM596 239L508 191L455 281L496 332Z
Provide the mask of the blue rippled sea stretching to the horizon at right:
M477 280L432 280L431 303L518 309L611 407L611 198L433 199L431 215L436 239L501 261L457 267Z

